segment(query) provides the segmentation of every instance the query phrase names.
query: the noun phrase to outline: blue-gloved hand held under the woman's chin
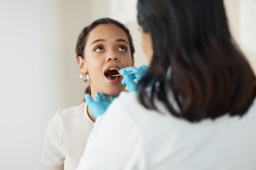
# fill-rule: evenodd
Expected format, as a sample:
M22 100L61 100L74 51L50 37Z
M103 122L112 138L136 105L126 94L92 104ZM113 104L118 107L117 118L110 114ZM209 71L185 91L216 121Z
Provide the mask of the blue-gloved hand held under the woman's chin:
M106 109L109 107L114 99L115 96L110 96L110 100L108 102L107 96L104 93L100 94L100 92L98 91L94 96L94 100L91 95L85 95L86 103L95 119L105 113Z

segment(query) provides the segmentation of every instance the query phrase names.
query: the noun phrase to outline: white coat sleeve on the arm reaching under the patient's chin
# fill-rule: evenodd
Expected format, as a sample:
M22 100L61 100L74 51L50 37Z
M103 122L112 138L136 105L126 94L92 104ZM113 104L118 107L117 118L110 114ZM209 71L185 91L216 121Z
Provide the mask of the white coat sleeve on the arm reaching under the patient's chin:
M117 101L97 118L77 170L147 169L143 137Z

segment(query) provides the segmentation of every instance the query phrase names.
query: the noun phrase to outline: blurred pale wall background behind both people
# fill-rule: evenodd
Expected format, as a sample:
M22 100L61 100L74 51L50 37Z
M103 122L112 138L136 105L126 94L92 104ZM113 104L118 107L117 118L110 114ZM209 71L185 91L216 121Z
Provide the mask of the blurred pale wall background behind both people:
M98 18L127 25L135 66L147 65L136 20L136 0L0 0L0 169L45 169L40 163L48 121L80 105L75 45ZM225 0L230 29L256 71L256 1Z

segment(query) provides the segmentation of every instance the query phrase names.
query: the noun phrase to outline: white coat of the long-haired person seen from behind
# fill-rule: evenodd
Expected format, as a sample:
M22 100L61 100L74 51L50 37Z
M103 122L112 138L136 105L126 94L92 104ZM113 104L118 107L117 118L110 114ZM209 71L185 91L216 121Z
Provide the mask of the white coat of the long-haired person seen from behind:
M96 120L77 170L255 170L256 105L242 118L190 123L124 93Z

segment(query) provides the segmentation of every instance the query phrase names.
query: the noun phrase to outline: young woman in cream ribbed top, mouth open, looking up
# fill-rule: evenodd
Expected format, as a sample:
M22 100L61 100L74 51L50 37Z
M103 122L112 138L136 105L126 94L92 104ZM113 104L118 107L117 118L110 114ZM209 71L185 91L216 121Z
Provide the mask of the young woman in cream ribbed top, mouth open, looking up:
M125 90L122 76L110 77L124 67L134 66L133 40L125 25L110 18L94 21L79 35L76 56L81 80L90 80L85 94L108 103ZM86 102L57 112L47 126L41 158L47 169L75 170L94 122Z

